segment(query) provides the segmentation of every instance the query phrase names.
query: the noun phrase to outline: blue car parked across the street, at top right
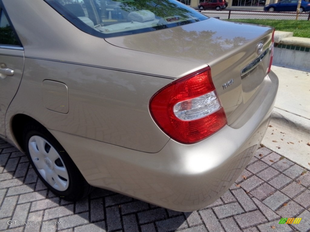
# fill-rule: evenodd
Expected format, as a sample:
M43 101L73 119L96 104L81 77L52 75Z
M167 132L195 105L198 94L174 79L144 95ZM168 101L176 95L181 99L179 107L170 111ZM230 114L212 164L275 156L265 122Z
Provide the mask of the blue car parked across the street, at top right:
M283 0L278 3L269 4L264 7L264 11L297 11L298 0ZM310 3L301 1L299 12L310 11Z

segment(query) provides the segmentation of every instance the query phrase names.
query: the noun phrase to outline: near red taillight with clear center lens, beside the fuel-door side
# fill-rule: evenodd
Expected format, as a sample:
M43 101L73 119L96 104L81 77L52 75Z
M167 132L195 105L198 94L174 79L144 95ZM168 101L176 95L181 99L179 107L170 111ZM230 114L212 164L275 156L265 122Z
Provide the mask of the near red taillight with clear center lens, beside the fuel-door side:
M150 101L150 112L167 135L185 144L199 142L227 124L209 67L159 90Z

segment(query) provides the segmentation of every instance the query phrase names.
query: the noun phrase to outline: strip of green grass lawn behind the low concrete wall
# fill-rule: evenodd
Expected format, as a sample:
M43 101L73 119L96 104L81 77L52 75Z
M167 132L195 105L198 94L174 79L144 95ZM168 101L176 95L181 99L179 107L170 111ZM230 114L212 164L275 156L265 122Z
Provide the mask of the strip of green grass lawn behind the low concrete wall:
M295 37L310 38L310 21L273 19L229 19L229 21L268 25L277 31L294 32Z

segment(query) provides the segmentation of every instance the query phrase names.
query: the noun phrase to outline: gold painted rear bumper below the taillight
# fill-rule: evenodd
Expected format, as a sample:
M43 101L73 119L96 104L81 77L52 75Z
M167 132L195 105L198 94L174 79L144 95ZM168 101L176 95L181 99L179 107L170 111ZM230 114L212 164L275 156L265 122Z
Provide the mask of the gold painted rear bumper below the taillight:
M274 73L264 104L240 128L225 126L191 145L174 140L144 153L51 131L88 183L177 211L204 208L239 177L258 148L270 120L278 79ZM267 88L267 87L266 87Z

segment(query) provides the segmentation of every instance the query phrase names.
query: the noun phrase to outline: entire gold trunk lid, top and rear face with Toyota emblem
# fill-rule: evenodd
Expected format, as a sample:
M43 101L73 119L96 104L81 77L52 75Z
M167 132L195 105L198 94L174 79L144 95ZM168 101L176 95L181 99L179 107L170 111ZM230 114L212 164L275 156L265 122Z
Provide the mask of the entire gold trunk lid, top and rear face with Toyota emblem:
M267 75L272 31L270 27L210 18L179 27L105 40L126 49L210 66L213 83L223 104L228 125L231 125L255 98ZM241 124L233 127L238 128Z

